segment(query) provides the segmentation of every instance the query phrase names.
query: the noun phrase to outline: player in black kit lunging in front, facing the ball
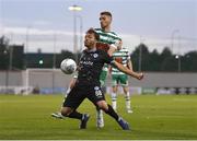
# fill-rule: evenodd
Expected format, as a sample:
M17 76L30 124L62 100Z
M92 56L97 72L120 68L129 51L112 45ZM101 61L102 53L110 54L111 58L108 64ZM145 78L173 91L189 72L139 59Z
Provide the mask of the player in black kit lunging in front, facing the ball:
M124 130L129 130L128 122L119 117L112 106L106 103L105 96L101 91L100 74L104 63L115 66L129 75L132 75L132 72L127 67L113 60L113 57L109 57L106 51L96 49L99 38L100 36L93 28L90 28L85 34L84 45L86 49L82 52L79 62L79 75L76 85L63 102L61 115L79 119L81 121L80 128L85 129L90 116L78 113L77 108L84 98L89 98L94 105L113 117Z

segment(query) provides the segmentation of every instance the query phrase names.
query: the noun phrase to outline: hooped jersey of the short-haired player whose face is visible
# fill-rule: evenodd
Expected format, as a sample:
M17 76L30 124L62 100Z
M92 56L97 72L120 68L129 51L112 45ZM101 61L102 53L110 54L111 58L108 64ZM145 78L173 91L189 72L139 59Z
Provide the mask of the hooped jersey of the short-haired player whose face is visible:
M117 46L119 44L120 37L117 36L114 32L104 32L102 28L94 28L95 32L100 35L101 43L108 44L117 49ZM107 64L103 67L104 71L108 71Z

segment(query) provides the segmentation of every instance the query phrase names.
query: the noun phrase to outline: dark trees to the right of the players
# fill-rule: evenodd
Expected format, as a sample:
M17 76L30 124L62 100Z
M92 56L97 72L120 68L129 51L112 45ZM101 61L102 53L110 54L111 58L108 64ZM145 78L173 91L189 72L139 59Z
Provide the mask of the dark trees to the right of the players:
M184 55L172 54L170 47L159 54L157 49L149 51L144 44L140 44L131 52L135 70L139 70L139 56L141 51L141 70L159 72L197 72L197 51L188 51Z

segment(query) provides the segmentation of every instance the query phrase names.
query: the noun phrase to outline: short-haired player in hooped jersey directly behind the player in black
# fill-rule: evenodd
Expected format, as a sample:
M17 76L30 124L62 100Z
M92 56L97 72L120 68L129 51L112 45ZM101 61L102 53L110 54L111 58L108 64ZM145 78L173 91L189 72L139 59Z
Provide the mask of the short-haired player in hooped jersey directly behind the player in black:
M113 52L117 50L117 45L120 42L120 38L111 31L112 14L109 12L101 12L100 24L101 28L95 28L95 32L100 35L97 48L106 50L108 55L112 56ZM105 64L100 75L100 83L102 89L105 86L107 71L108 67ZM103 111L101 109L96 110L96 126L99 128L104 127Z

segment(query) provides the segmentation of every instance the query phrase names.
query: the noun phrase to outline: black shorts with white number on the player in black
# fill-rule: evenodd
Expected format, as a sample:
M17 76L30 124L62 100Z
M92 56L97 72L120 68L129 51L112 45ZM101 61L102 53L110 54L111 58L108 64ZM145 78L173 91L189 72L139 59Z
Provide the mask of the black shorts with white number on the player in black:
M63 107L71 107L77 109L84 98L89 98L94 105L99 101L105 101L105 96L102 93L99 85L74 85L63 102Z

